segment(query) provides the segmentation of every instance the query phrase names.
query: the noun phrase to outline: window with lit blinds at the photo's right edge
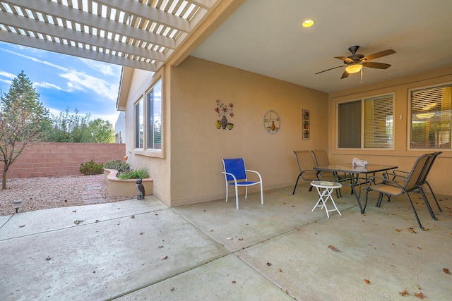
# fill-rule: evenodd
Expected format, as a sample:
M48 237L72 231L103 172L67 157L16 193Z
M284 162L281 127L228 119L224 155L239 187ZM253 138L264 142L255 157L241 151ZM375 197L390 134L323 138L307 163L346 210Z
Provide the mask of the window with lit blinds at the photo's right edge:
M410 91L412 149L451 149L452 84Z

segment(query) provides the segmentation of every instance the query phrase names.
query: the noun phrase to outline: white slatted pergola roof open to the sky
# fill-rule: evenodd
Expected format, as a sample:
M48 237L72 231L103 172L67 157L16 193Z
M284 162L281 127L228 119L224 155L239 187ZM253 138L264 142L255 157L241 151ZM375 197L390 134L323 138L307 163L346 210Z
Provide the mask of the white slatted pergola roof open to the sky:
M219 0L0 1L0 41L156 71Z

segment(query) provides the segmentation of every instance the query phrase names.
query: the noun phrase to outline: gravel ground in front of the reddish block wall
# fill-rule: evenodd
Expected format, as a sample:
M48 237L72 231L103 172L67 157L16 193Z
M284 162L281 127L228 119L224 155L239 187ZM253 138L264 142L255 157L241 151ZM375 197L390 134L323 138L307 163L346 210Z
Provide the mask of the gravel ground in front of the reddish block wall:
M23 200L20 212L85 205L82 196L89 190L87 185L99 187L105 202L131 199L109 196L104 175L12 178L7 180L7 189L0 190L0 216L13 214L11 202L17 199Z

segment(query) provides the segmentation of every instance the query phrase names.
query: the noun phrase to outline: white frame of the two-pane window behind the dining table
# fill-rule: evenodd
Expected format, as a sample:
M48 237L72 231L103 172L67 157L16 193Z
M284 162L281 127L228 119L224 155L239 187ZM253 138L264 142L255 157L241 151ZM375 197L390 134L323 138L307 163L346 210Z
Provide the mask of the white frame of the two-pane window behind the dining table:
M365 147L365 103L367 100L371 100L371 99L378 99L379 97L392 97L392 119L391 120L386 120L385 123L382 125L384 127L385 133L386 133L386 129L387 129L387 125L388 123L392 123L391 124L391 129L392 132L389 133L388 135L392 136L389 137L389 142L388 142L388 147ZM395 92L389 92L389 93L383 93L383 94L377 94L377 95L371 95L369 97L361 97L361 98L356 98L356 99L350 99L350 100L345 100L343 102L338 102L336 104L336 148L337 149L378 149L378 150L382 150L382 151L387 151L387 150L393 150L394 149L394 112L395 112L395 102L396 99L396 93ZM359 102L361 105L361 116L360 116L360 130L359 130L359 147L340 147L340 105L341 104L347 104L347 103L353 103L353 102ZM375 131L372 131L372 133L374 133L375 135ZM381 135L380 135L381 136Z

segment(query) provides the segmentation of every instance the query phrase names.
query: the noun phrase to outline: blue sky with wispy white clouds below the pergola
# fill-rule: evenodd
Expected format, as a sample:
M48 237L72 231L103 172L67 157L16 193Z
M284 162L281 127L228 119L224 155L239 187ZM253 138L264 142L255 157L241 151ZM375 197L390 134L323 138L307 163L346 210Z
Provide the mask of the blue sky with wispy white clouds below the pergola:
M0 90L8 93L22 70L50 113L69 106L70 113L116 123L121 66L0 42Z

